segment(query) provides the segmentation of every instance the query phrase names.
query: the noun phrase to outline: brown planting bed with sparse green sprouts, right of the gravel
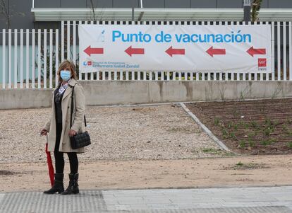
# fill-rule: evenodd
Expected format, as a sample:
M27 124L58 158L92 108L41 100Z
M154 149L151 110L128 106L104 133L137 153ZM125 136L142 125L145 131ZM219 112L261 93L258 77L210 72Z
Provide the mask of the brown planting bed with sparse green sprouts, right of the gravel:
M186 106L239 154L292 154L292 98Z

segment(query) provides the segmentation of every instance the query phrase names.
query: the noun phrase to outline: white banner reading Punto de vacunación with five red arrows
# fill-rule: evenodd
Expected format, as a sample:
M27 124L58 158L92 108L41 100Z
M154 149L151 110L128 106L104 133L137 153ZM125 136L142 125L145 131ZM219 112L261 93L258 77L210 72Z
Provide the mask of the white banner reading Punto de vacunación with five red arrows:
M270 25L79 25L80 71L271 72Z

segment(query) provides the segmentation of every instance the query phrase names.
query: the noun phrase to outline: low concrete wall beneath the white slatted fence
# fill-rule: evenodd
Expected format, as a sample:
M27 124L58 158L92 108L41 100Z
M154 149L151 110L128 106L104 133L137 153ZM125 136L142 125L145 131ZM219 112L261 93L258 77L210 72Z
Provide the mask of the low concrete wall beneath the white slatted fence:
M291 81L80 81L87 105L292 97ZM52 89L1 89L0 109L47 108Z

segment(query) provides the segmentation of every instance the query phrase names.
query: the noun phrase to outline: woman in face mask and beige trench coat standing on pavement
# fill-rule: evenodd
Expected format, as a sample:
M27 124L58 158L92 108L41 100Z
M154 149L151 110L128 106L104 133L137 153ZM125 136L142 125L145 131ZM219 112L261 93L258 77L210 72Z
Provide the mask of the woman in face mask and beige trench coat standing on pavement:
M72 149L70 137L74 134L83 132L83 119L85 115L85 96L83 86L76 81L75 65L71 61L64 61L60 64L57 71L59 85L53 92L51 119L42 129L41 134L47 135L48 151L54 151L55 169L54 185L51 189L44 191L45 194L61 195L78 194L78 153L83 153L84 148ZM73 97L73 116L72 127L70 128L71 119L71 94L74 86ZM63 153L67 153L70 161L69 185L64 191L63 187L63 170L64 158Z

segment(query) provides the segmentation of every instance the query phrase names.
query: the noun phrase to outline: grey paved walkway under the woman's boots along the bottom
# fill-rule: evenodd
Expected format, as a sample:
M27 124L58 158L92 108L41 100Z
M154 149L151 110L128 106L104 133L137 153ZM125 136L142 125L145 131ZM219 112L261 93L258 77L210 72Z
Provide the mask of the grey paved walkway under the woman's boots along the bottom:
M292 212L292 186L0 194L0 212Z

